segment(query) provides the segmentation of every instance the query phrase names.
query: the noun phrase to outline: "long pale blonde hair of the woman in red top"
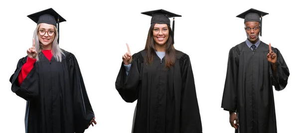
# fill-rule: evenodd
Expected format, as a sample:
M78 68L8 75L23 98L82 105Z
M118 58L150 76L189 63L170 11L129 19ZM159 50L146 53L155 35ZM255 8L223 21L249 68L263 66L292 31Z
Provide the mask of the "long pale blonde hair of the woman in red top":
M40 46L40 43L39 43L39 39L38 39L38 28L40 26L40 23L37 24L35 30L34 30L34 33L33 33L33 38L35 40L35 49L38 49L36 50L37 52L37 56L36 56L36 60L39 61L39 52L41 52L42 50L42 47ZM57 39L58 39L58 32L57 32L57 28L56 26L54 26L54 30L55 30L55 38L53 40L53 43L52 43L52 54L54 56L54 58L61 62L62 61L62 54L64 55L63 51L60 49L59 45L58 45L58 42L57 42Z

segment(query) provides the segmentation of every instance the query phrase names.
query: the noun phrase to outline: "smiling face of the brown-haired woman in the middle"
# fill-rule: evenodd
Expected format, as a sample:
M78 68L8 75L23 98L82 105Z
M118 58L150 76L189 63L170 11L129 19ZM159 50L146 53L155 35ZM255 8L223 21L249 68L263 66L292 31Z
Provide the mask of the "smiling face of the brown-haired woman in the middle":
M169 37L169 29L167 24L156 23L152 30L152 36L155 45L165 45Z

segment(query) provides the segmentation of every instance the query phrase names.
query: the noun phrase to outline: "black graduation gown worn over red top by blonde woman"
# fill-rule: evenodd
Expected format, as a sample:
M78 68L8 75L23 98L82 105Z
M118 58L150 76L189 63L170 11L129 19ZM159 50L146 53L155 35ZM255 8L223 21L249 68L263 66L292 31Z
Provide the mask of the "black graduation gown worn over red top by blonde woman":
M72 53L64 53L58 62L40 52L19 86L17 77L27 59L23 57L10 77L11 91L27 101L26 133L84 133L94 118L78 62Z

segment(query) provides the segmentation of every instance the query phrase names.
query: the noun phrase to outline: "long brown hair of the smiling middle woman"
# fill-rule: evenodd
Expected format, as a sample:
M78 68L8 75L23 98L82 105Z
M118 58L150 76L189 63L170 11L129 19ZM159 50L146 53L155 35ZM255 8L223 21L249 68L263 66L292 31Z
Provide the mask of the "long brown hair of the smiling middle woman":
M155 53L155 47L154 47L154 39L152 36L152 30L154 27L155 23L150 24L149 27L149 33L148 33L148 38L147 38L147 43L145 50L147 50L147 55L146 55L146 63L151 64ZM173 47L172 44L172 30L170 26L167 24L168 30L169 30L169 35L168 35L168 40L166 41L166 51L165 51L165 65L167 68L170 68L171 66L174 65L175 61L175 48Z

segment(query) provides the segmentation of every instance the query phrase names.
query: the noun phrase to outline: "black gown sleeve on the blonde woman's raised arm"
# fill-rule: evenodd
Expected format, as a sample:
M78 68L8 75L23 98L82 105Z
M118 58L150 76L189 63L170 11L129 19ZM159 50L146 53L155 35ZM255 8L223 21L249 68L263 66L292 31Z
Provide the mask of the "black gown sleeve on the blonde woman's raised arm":
M22 66L26 63L26 61L27 56L19 59L14 74L10 76L9 82L11 83L11 91L13 93L26 101L31 101L36 99L39 93L38 74L36 72L35 64L20 86L17 78L22 69Z

